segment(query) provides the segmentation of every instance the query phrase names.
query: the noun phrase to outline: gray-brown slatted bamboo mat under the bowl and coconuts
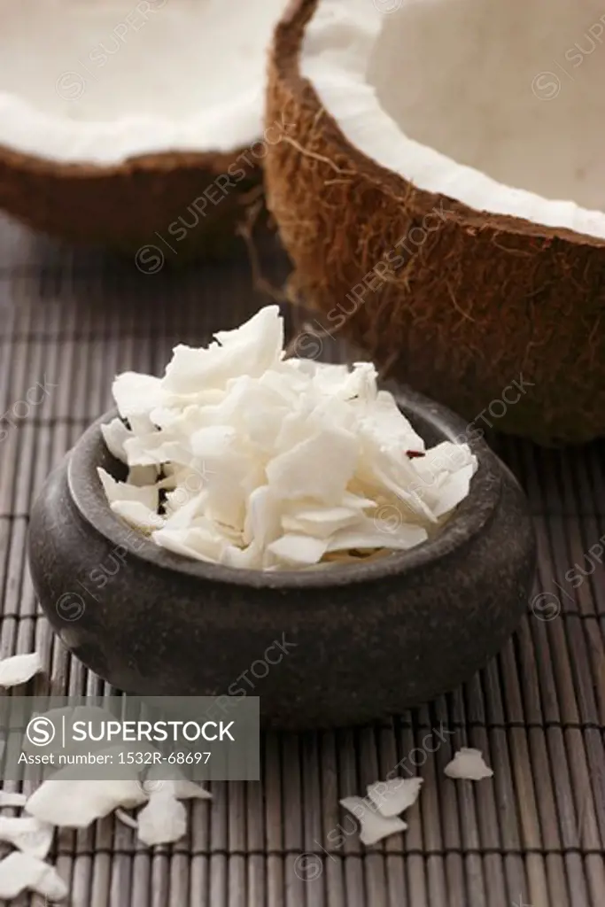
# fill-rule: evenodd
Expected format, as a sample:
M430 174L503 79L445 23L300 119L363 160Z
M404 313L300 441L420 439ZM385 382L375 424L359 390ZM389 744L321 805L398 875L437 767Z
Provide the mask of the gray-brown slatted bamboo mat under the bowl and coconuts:
M269 258L278 281L285 262ZM205 343L265 302L243 250L222 266L142 275L132 261L58 248L0 220L1 412L37 382L55 385L27 413L17 407L24 417L0 444L2 656L35 646L65 691L102 688L36 610L24 561L34 494L108 407L113 375L160 372L175 343ZM137 846L111 818L61 834L54 862L71 903L604 907L605 581L586 552L605 535L605 443L562 453L495 444L530 497L541 555L534 594L543 593L499 658L389 725L266 736L262 782L211 785L210 806L194 805L174 847ZM577 589L564 579L574 565L592 571ZM365 794L443 727L444 744L419 768L409 831L364 848L338 799ZM467 745L483 750L493 780L444 777L452 751Z

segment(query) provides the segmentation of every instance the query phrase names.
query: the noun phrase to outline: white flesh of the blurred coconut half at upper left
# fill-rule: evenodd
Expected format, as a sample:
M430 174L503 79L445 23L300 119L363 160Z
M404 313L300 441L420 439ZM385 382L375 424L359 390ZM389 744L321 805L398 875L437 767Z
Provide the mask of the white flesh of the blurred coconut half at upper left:
M285 3L0 0L0 146L100 164L248 146Z

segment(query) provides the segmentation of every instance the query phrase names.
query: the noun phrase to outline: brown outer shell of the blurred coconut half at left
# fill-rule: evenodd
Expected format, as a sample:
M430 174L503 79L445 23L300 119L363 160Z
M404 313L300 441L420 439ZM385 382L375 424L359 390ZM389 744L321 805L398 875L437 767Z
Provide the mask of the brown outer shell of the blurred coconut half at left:
M249 191L261 182L260 164L245 148L229 154L146 154L105 167L47 161L0 146L0 208L70 242L128 255L143 249L141 270L152 273L157 250L162 263L173 264L192 254L220 252L234 235ZM221 180L224 193L212 189L229 172L230 187ZM205 190L209 195L198 202L200 214L191 206Z

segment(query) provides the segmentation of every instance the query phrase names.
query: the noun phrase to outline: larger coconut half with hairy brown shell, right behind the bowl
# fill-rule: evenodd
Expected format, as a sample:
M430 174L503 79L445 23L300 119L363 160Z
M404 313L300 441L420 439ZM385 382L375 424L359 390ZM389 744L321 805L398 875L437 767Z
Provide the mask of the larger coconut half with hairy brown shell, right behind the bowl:
M294 0L278 24L295 286L478 430L605 434L601 35L597 0Z

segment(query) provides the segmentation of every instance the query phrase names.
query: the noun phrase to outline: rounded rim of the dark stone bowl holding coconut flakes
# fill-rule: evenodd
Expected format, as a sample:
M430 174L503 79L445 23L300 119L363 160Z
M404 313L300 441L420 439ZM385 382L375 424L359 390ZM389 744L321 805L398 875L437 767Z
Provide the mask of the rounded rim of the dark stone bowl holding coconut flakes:
M320 571L260 571L249 568L227 567L208 561L197 561L161 548L147 539L141 532L114 514L107 505L102 484L96 467L102 463L100 451L105 458L115 458L108 451L102 437L101 426L118 415L112 408L102 414L83 433L68 453L67 484L72 502L83 520L93 526L102 537L115 547L122 546L128 557L143 561L146 565L161 571L183 574L191 579L245 586L255 589L287 590L336 588L371 580L382 580L394 576L405 576L434 561L441 561L453 551L468 544L487 522L500 501L503 463L483 441L473 423L454 414L446 406L434 403L404 385L389 382L381 385L395 396L397 405L404 414L417 415L432 425L442 441L455 441L464 437L472 452L477 456L478 468L471 481L470 493L461 502L441 531L433 539L423 541L406 551L394 551L376 561L361 561L358 564L335 566ZM422 433L420 433L422 434ZM132 536L137 538L137 549L132 548Z

